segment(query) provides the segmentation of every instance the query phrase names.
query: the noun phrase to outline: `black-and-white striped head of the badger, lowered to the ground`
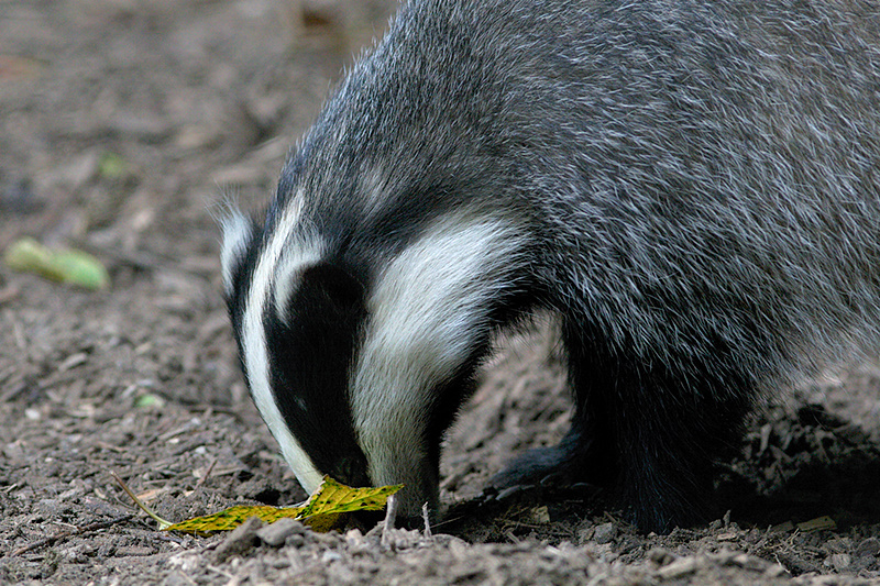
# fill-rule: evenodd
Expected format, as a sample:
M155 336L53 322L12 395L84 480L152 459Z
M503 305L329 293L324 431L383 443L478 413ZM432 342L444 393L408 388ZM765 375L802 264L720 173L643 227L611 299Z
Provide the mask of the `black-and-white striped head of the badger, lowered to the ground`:
M223 221L223 288L251 395L307 491L324 474L404 484L400 513L418 517L437 508L441 438L514 286L504 267L521 236L452 213L383 248L374 235L321 233L302 206L288 200L266 226L239 212Z

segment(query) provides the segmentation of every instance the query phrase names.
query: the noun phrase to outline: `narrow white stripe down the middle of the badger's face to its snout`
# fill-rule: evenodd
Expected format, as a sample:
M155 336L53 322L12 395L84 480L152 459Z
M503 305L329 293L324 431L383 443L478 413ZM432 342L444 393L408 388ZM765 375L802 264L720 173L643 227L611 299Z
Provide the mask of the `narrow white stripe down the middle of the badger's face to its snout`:
M311 494L320 485L322 475L290 433L275 403L270 376L268 349L263 328L263 316L268 309L272 289L279 276L278 272L282 273L280 276L293 276L297 266L301 267L304 263L320 257L320 246L315 242L304 242L297 232L302 211L301 202L301 197L292 198L290 204L284 210L275 232L272 233L266 247L257 259L245 302L241 340L244 369L254 402L270 431L278 441L282 454L294 471L299 484L307 493ZM282 262L283 256L284 261Z

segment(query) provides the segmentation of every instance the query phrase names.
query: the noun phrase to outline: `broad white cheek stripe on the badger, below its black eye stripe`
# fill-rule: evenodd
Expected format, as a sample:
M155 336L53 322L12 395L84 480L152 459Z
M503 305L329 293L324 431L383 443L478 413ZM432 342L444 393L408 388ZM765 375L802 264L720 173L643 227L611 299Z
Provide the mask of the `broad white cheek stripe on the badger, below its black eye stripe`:
M457 212L380 275L351 379L354 425L376 485L419 484L431 386L469 357L525 245L508 220Z

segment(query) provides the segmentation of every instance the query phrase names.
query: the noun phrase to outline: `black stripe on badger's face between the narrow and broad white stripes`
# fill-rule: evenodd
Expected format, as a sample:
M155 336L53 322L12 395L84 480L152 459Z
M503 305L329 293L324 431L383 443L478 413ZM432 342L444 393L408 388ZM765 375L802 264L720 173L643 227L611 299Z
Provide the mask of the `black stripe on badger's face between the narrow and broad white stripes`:
M365 313L363 286L349 270L321 263L305 268L292 290L290 299L268 303L263 317L276 405L321 473L369 486L348 399Z

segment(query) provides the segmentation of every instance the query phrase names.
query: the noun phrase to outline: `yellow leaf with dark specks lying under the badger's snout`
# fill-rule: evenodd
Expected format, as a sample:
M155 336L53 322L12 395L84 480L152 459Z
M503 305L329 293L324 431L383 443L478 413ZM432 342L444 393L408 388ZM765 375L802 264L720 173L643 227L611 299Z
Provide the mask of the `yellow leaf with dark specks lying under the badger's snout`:
M351 488L324 476L318 490L302 507L239 505L207 517L196 517L174 523L165 530L206 534L213 531L230 531L251 517L258 517L267 523L277 521L282 517L293 517L315 531L327 532L341 524L345 513L382 510L388 497L403 487L404 485Z

